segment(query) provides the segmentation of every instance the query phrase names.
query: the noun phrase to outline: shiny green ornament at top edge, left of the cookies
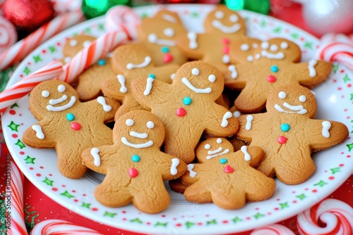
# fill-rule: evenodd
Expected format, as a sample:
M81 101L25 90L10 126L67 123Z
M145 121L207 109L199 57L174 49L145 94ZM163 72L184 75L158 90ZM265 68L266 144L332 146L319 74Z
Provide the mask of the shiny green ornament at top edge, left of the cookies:
M91 19L107 13L109 8L116 5L128 5L130 0L83 0L82 12L85 18Z

